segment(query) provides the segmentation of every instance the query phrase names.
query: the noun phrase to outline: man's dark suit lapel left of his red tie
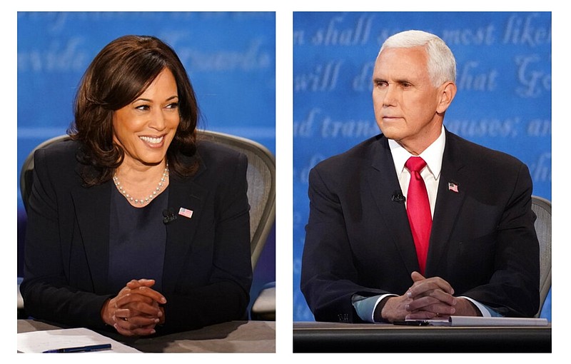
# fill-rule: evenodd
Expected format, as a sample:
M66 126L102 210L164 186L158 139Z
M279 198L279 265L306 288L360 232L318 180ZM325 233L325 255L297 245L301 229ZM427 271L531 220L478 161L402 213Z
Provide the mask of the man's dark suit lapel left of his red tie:
M376 219L385 221L390 240L398 248L408 271L418 271L418 259L405 203L392 201L393 194L400 191L400 184L388 141L384 136L375 143L371 158L372 163L366 171L366 178L378 208Z

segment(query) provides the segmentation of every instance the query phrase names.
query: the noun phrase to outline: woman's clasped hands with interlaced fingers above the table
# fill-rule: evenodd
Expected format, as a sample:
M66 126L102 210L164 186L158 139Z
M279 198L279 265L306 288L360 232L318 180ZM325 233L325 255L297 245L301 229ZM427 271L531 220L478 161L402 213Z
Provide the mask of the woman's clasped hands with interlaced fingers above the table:
M161 305L166 298L153 290L155 280L131 280L116 297L106 301L101 316L121 335L144 336L155 333L155 326L164 323Z

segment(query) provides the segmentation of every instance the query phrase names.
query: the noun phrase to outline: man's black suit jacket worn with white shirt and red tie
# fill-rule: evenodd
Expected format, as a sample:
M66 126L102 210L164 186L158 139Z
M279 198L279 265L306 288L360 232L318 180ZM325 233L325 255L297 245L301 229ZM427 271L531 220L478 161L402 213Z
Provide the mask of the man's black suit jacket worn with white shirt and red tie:
M450 191L448 182L458 185ZM310 172L301 290L315 320L359 322L351 297L403 295L418 271L383 135ZM503 315L539 309L539 243L525 164L446 131L425 275Z

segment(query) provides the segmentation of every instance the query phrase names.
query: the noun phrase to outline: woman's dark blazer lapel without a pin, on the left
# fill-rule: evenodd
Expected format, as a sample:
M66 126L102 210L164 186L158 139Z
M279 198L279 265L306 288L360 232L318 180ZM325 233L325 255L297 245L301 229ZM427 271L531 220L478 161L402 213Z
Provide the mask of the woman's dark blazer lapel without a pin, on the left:
M103 291L109 269L111 182L71 191L94 290ZM74 243L77 239L74 239ZM94 268L92 268L94 267ZM95 271L94 271L95 270Z

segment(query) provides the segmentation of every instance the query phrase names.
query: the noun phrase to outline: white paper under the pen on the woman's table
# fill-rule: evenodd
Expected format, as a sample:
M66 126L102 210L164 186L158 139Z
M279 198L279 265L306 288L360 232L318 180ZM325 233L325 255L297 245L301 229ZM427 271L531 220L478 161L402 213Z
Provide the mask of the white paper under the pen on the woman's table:
M43 353L46 350L107 343L111 344L111 350L91 353L141 353L135 348L131 348L87 328L31 331L18 334L18 351L20 353Z

